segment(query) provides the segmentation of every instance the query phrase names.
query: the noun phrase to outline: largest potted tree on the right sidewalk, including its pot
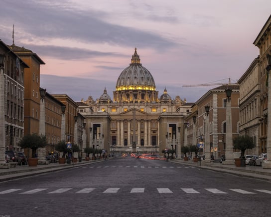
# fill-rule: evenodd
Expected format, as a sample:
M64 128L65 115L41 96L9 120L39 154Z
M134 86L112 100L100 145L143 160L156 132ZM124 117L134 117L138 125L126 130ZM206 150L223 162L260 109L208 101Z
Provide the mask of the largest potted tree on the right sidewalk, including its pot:
M241 151L241 156L235 158L235 165L237 167L246 167L245 151L247 149L255 148L253 137L249 135L238 136L233 139L233 147Z

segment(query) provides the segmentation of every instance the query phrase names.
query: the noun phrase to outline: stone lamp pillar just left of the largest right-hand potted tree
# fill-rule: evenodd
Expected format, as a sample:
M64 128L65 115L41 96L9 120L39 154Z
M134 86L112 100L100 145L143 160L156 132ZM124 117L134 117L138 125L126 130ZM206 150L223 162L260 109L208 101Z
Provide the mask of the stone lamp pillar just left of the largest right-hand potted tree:
M226 102L226 150L225 150L225 161L223 164L234 164L233 159L233 129L232 129L232 102L231 95L232 89L227 88L225 90L227 96Z

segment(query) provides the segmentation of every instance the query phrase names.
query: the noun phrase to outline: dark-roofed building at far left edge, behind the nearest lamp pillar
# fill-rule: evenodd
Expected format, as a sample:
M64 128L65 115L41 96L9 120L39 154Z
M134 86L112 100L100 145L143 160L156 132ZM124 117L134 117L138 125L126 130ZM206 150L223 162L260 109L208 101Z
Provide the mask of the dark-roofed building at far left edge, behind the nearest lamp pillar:
M19 151L23 136L25 71L28 65L0 40L0 143L3 149Z

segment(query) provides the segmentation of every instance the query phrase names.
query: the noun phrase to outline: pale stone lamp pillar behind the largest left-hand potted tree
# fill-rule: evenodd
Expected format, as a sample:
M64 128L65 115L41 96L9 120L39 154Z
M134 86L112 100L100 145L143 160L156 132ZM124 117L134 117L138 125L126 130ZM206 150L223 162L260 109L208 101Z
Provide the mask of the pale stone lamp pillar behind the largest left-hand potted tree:
M39 88L40 92L40 109L39 109L39 135L46 136L45 133L45 95L46 89ZM46 148L38 148L38 164L47 164Z

